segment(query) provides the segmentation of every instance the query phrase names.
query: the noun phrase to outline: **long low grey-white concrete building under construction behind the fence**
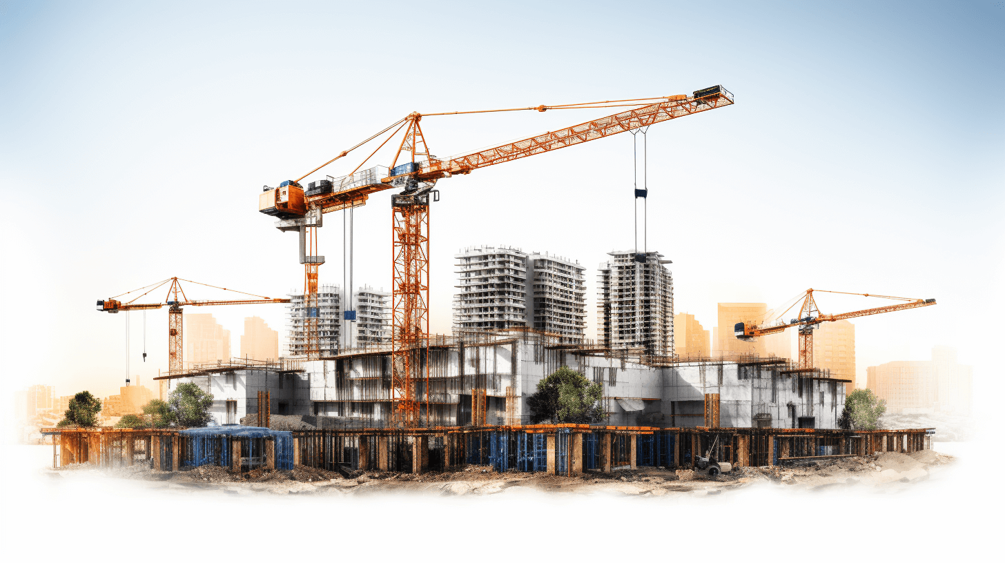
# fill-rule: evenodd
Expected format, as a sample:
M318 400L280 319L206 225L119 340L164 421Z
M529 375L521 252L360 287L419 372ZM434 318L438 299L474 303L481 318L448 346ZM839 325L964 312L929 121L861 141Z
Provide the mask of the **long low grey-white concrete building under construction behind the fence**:
M428 344L416 386L426 426L528 424L528 398L561 366L603 387L606 423L617 426L837 428L844 405L844 380L779 358L679 360L562 343L529 329L436 336ZM390 369L390 348L370 346L317 361L210 364L162 379L213 393L221 424L255 414L258 392L268 391L274 413L383 427Z

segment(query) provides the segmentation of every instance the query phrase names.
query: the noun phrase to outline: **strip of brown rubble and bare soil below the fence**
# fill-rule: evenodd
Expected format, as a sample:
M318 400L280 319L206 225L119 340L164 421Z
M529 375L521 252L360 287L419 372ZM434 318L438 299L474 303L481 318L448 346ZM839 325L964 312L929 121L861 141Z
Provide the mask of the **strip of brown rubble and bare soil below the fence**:
M799 465L743 467L717 478L689 470L639 467L610 474L587 472L580 477L496 473L483 466L421 476L400 473L357 472L346 479L337 472L296 465L292 471L235 474L223 467L203 466L180 472L155 472L147 465L95 470L75 464L48 470L73 479L74 474L161 482L169 488L224 491L229 494L360 496L382 493L423 493L437 496L482 496L523 488L549 493L615 494L660 497L674 494L717 495L754 484L773 484L791 490L822 490L842 486L901 487L927 480L932 471L952 463L952 455L934 450L912 454L884 452L864 457L837 457ZM55 477L54 476L54 477Z

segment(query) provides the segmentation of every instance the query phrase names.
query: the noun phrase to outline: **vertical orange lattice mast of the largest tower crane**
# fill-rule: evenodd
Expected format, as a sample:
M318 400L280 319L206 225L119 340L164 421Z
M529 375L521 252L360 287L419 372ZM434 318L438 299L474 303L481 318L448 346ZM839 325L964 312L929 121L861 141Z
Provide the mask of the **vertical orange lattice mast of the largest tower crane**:
M428 195L394 196L391 219L391 416L395 425L413 427L420 425L416 383L424 376L429 388ZM427 393L427 421L428 413Z

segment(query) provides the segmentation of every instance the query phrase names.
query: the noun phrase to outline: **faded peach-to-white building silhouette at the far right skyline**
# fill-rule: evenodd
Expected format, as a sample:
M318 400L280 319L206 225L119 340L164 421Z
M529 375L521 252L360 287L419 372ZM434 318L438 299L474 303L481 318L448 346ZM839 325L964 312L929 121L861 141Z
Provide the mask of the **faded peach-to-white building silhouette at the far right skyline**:
M887 412L971 414L973 368L959 365L952 348L935 347L932 361L887 362L865 371L867 387L886 400Z

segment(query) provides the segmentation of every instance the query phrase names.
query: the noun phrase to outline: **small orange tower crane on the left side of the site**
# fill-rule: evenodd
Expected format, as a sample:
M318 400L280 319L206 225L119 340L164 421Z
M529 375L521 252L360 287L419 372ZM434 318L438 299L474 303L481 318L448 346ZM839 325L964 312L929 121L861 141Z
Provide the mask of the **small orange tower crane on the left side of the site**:
M207 288L214 288L217 290L224 290L227 292L234 292L237 294L243 294L245 296L251 296L256 299L244 299L244 300L232 300L232 301L210 301L210 300L192 300L189 301L185 297L185 291L182 290L181 283L188 282L189 284L195 284L197 286L205 286ZM164 299L164 303L135 303L138 299L146 296L147 294L164 287L168 286L168 295ZM145 291L146 290L146 291ZM131 301L123 303L117 301L117 298L123 296L128 296L130 294L135 294L137 292L144 292L139 296L133 298ZM181 296L181 299L179 299ZM208 307L215 305L251 305L256 303L289 303L287 299L272 299L263 296L256 296L253 294L246 294L244 292L238 292L236 290L228 290L227 288L219 288L217 286L210 286L208 284L200 284L198 282L192 282L190 279L182 279L180 277L168 277L163 282L158 282L156 284L151 284L150 286L145 286L139 290L133 290L132 292L126 292L116 296L115 298L109 298L105 301L97 302L97 310L104 311L106 313L119 313L120 311L146 311L149 309L161 309L164 306L168 307L168 373L174 375L181 373L182 371L182 308L186 306L192 307Z

